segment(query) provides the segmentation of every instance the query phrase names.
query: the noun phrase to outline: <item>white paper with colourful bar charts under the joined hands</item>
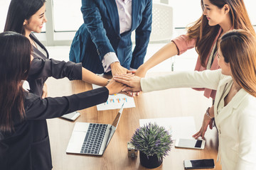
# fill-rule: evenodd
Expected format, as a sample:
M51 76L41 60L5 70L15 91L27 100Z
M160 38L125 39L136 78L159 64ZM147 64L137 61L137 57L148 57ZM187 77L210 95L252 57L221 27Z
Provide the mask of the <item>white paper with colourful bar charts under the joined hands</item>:
M100 88L95 84L92 84L92 89ZM125 103L124 103L125 102ZM97 111L106 111L111 109L121 108L124 103L124 108L135 108L134 98L125 94L113 94L109 95L106 103L97 105Z

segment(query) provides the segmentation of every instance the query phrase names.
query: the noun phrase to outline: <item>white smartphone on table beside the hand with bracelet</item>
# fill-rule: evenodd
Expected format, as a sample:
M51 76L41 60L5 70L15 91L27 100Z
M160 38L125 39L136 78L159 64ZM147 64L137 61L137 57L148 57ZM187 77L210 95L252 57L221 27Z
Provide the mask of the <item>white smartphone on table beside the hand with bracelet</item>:
M175 147L185 147L191 149L204 149L206 141L193 139L177 139Z

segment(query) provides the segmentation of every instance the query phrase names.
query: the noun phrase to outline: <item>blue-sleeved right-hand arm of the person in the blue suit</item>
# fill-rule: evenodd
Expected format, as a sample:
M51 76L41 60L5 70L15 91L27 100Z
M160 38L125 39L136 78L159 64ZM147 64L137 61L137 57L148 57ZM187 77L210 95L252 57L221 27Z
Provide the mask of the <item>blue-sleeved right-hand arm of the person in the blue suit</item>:
M142 5L142 4L141 4ZM141 6L141 8L143 8ZM139 10L139 9L137 9ZM149 44L152 23L152 0L147 0L144 10L142 11L142 21L135 30L135 47L132 52L132 61L130 67L137 69L144 62L146 48Z

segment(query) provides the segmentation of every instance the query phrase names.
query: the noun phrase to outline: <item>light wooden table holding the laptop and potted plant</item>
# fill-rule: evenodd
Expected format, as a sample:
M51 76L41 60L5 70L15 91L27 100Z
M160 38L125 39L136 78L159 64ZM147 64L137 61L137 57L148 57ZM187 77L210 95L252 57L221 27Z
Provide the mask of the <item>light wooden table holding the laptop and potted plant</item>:
M48 79L48 96L67 96L92 89L91 84L83 81L69 81L68 79ZM146 169L137 158L129 158L127 142L139 127L139 119L169 118L176 116L193 116L196 129L201 128L203 114L210 106L211 100L203 96L202 91L193 89L168 89L144 93L134 97L136 108L125 108L119 126L101 157L81 154L66 154L65 150L75 125L74 122L55 118L48 120L51 153L54 170L97 170L97 169ZM108 123L111 124L118 110L97 111L96 106L79 111L80 117L75 122ZM184 125L186 126L186 125ZM183 168L184 159L211 159L215 160L215 169L221 169L216 163L218 153L218 134L215 128L206 132L206 148L176 149L174 146L165 157L164 162L156 169Z

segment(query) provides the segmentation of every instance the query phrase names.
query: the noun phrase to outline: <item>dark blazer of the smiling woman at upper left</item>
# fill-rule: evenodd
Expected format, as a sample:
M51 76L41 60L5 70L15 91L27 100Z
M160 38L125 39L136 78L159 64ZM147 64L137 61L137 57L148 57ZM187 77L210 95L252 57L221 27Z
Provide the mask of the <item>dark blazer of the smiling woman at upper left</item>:
M31 87L31 93L42 96L43 84L48 77L54 77L55 79L62 79L68 77L70 80L82 79L82 64L74 62L64 62L49 59L48 51L46 47L31 33L31 39L34 40L43 50L44 55L40 50L33 46L33 61L31 62L31 69L28 75L28 83Z

